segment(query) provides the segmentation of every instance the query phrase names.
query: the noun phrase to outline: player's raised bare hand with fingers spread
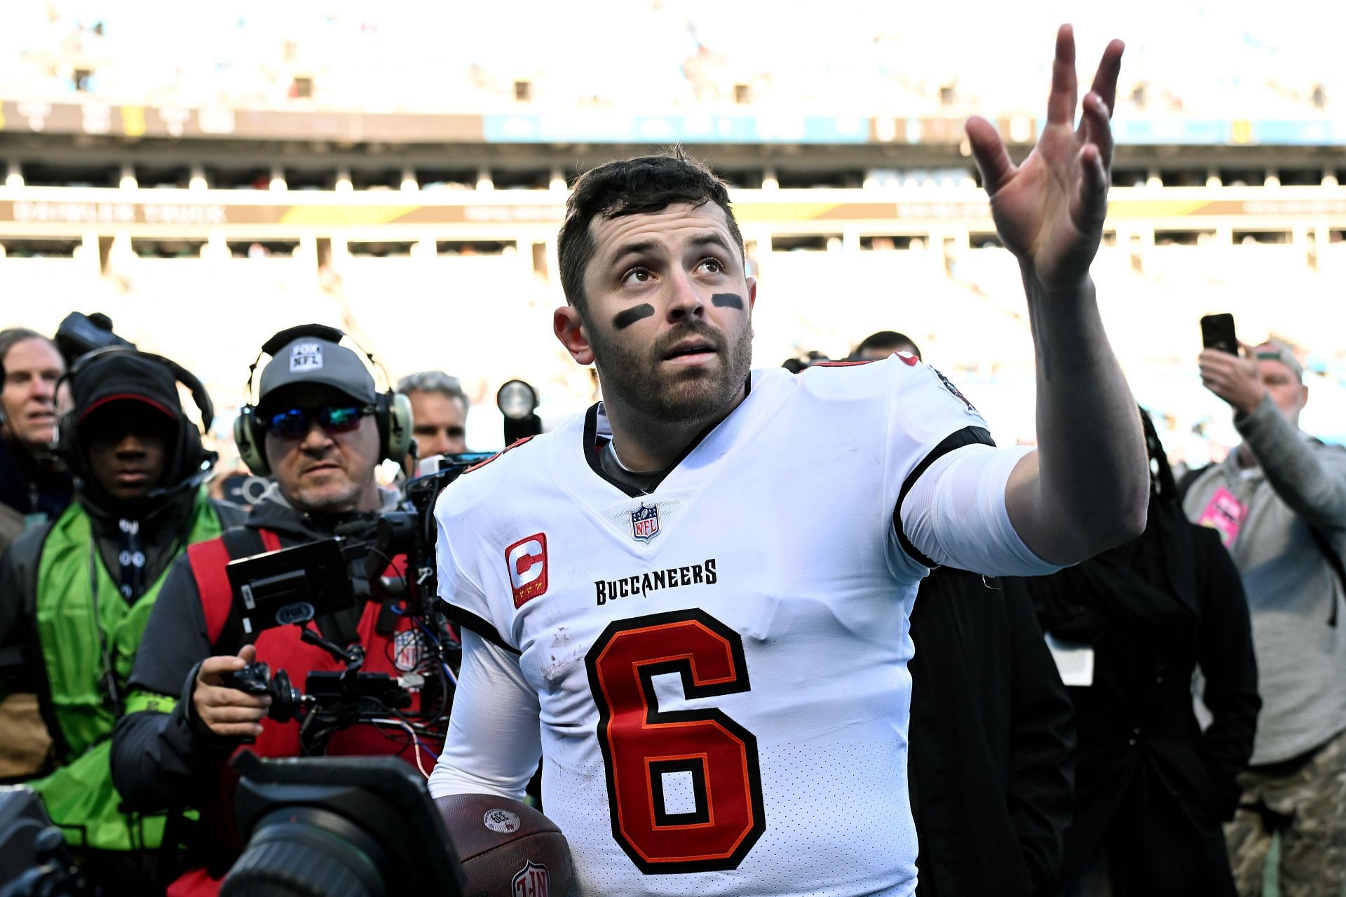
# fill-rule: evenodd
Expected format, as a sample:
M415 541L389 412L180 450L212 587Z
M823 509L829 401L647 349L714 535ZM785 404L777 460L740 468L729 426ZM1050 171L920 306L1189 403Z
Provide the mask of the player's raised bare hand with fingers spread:
M1104 50L1075 128L1075 38L1070 26L1061 26L1047 125L1022 166L1010 162L995 125L980 116L968 120L968 140L1000 238L1026 276L1049 292L1078 288L1102 238L1113 145L1109 119L1121 51L1121 40Z

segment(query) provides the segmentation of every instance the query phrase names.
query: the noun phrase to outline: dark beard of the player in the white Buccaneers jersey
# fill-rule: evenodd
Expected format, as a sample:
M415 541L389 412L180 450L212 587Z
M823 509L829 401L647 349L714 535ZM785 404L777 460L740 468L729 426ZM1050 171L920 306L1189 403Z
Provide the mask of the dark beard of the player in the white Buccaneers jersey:
M719 370L668 370L664 357L677 343L701 337L713 343L723 365ZM604 395L621 397L633 409L668 423L711 420L724 412L748 378L752 365L752 326L734 346L708 323L693 321L658 339L641 354L606 337L591 335L595 366Z

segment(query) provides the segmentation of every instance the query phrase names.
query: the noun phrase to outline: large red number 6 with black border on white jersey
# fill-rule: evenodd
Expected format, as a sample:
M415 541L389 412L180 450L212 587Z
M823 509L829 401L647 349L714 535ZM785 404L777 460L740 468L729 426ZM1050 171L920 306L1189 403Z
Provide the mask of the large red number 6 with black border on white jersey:
M646 874L736 869L766 830L756 738L716 708L661 711L654 677L747 691L743 638L701 610L650 614L608 625L584 665L616 843Z

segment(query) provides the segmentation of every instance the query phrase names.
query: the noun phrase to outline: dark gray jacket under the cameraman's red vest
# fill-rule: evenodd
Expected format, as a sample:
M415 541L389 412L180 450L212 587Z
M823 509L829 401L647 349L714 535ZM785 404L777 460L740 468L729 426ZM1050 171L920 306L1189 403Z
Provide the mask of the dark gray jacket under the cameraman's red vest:
M339 525L373 514L311 514L279 497L275 486L253 506L244 524L269 529L284 548L330 539ZM328 638L330 618L319 621ZM227 628L226 632L233 628ZM241 630L238 630L241 632ZM219 766L240 741L214 735L191 710L191 680L206 657L237 653L238 644L211 644L201 591L187 558L179 558L159 591L131 673L131 692L180 698L171 712L140 711L117 722L112 737L112 778L127 805L156 812L207 803L217 787Z

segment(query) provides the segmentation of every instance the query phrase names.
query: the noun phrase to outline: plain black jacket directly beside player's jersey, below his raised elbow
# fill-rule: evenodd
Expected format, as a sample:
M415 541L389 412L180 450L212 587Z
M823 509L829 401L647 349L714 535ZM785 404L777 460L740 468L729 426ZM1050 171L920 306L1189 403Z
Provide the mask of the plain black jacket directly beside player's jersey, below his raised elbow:
M935 570L911 638L917 893L1043 893L1070 823L1075 731L1023 585Z

